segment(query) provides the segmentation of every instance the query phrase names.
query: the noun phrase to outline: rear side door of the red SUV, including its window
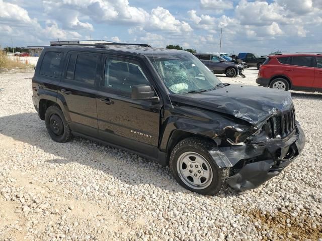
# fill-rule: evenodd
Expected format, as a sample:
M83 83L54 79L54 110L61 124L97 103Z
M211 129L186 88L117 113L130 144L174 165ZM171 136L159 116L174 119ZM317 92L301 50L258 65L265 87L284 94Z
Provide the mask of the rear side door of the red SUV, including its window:
M284 74L289 76L296 87L313 87L315 68L313 56L292 56L290 65L285 66Z

